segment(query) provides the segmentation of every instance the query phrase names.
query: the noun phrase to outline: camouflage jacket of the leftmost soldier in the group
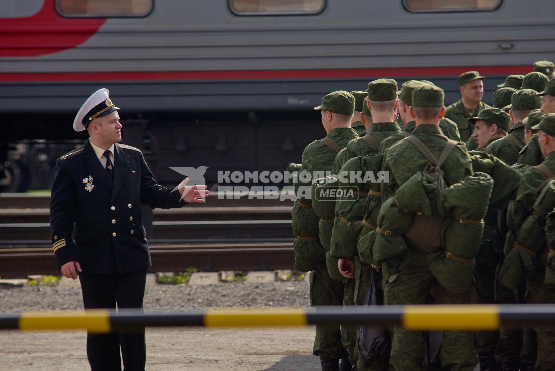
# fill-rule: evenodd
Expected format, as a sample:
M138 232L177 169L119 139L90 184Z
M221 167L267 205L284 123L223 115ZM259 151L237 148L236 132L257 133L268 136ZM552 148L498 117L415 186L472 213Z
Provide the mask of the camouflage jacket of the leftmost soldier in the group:
M327 138L331 138L339 148L345 148L347 143L352 139L358 138L356 132L351 128L335 128L327 134ZM305 147L302 152L301 171L307 171L312 174L314 180L315 172L331 172L337 153L326 143L322 141L314 141ZM310 183L307 183L310 187ZM300 202L312 204L310 199L299 199Z

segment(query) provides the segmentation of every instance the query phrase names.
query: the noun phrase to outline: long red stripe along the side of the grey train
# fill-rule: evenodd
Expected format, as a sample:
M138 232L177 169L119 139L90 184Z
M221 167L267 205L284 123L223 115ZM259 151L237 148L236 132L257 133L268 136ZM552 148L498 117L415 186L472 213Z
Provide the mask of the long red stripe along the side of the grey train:
M476 69L482 75L507 76L532 72L532 66L480 66L435 68L311 69L278 71L198 71L198 72L89 72L89 73L0 73L0 82L58 81L187 81L253 79L327 79L458 76Z

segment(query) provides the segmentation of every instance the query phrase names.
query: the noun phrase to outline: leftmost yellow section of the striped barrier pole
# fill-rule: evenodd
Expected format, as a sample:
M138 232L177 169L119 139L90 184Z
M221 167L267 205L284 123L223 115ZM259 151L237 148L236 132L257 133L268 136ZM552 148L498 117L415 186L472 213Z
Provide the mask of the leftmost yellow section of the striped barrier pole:
M75 330L87 328L91 333L109 333L108 309L92 309L85 312L22 313L20 330Z

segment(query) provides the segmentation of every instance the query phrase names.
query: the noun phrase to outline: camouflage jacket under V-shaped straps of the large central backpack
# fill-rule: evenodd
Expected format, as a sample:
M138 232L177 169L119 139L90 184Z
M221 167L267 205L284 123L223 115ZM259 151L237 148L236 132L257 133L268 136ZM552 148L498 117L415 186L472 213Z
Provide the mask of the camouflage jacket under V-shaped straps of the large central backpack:
M448 138L435 125L419 125L414 129L412 135L420 139L436 158L440 158L443 148L447 145ZM382 183L382 200L384 202L415 173L422 171L428 163L423 154L409 141L396 143L387 150L385 156L382 170L388 172L389 182ZM472 174L472 162L464 143L457 143L441 169L445 174L447 186L459 183L466 176Z

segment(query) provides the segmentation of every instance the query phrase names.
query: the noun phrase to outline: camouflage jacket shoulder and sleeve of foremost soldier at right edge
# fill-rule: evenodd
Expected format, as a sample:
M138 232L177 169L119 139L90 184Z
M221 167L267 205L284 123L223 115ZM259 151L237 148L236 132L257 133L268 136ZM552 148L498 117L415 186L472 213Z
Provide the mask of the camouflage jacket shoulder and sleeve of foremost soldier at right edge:
M555 151L549 152L543 161L549 170L555 174ZM513 220L515 229L519 230L526 218L532 214L536 202L539 186L546 181L547 176L541 170L528 168L524 172L518 185L517 197L514 201Z

